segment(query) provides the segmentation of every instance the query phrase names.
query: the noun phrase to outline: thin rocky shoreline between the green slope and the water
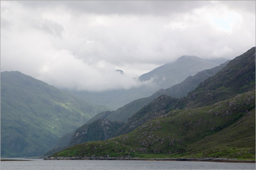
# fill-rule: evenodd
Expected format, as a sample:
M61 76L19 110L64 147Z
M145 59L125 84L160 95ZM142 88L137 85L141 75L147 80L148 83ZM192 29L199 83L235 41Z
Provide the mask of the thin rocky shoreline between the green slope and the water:
M237 160L228 158L138 158L138 157L108 157L108 156L76 156L76 157L47 157L44 160L140 160L140 161L206 161L206 162L226 162L226 163L256 163L255 160Z

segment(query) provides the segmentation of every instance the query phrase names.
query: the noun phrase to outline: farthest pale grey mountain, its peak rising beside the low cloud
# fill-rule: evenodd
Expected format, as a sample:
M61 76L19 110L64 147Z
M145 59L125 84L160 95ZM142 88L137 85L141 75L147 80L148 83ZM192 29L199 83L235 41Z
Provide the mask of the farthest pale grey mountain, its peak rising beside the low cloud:
M159 89L169 88L193 76L204 69L219 64L195 56L182 56L173 63L164 64L146 74L137 77L141 82L150 81L139 88L115 89L104 92L72 91L86 101L105 105L116 110L131 101L148 97Z

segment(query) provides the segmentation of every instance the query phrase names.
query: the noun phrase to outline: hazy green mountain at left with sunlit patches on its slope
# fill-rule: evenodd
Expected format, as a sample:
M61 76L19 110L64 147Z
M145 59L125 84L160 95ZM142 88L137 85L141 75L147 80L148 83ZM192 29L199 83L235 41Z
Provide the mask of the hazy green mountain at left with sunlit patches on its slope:
M1 157L40 156L107 110L18 71L1 73Z

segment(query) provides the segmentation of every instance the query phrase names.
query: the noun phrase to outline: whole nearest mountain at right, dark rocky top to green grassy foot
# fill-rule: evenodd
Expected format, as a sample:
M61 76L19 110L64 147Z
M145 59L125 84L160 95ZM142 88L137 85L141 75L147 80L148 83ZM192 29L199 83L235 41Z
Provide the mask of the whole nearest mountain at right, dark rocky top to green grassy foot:
M74 145L53 156L255 159L255 47L230 61L188 96L158 97L123 127L121 136ZM237 135L238 130L246 135ZM224 138L223 133L232 136ZM204 142L206 145L196 147Z

